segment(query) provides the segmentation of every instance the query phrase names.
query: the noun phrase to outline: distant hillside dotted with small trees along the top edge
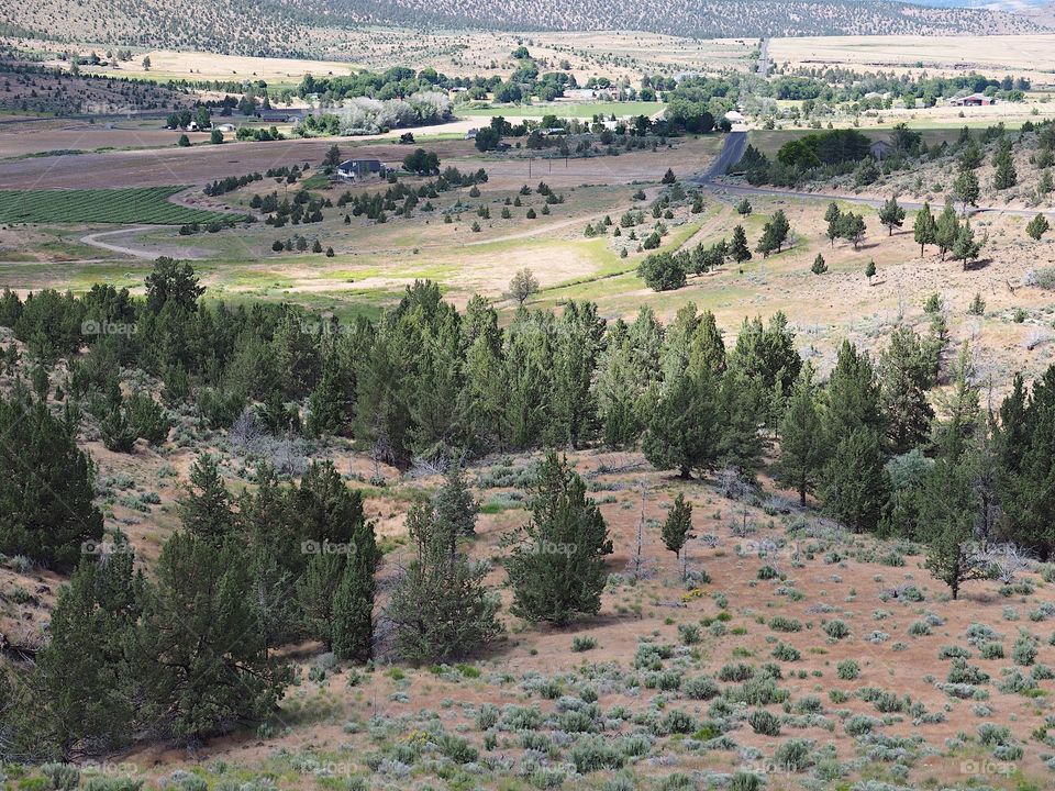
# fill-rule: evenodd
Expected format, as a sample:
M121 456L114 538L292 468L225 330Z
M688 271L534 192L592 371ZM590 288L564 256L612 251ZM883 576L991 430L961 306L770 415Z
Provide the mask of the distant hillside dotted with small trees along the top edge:
M143 20L149 19L148 25ZM1020 33L1029 19L998 11L922 8L892 2L836 0L698 0L626 3L598 0L567 5L529 0L496 7L479 0L191 0L178 7L156 0L59 0L5 5L0 31L58 43L98 42L240 55L318 55L340 27L397 24L411 27L482 27L520 31L641 30L700 37L828 34Z

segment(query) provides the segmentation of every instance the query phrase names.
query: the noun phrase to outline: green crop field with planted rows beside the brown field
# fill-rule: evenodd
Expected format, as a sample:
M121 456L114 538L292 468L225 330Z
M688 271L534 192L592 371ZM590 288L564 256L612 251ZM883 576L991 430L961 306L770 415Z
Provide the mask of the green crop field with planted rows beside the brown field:
M0 190L0 222L184 225L230 215L169 203L184 187L101 190Z

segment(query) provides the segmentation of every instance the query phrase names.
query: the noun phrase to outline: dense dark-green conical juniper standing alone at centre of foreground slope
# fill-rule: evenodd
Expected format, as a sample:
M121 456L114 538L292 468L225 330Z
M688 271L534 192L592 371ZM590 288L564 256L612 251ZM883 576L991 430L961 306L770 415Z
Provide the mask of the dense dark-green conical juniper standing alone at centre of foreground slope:
M532 517L506 561L513 614L558 626L597 614L612 542L582 479L553 452L538 466L530 508Z

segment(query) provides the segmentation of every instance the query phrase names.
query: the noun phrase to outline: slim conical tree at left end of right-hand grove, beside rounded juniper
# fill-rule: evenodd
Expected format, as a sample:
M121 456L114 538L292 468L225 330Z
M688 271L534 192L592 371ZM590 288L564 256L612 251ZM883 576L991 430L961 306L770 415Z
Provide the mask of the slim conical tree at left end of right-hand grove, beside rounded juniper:
M807 493L817 487L828 450L813 393L812 371L807 368L796 381L780 421L780 457L777 460L778 475L796 488L802 505L806 505Z

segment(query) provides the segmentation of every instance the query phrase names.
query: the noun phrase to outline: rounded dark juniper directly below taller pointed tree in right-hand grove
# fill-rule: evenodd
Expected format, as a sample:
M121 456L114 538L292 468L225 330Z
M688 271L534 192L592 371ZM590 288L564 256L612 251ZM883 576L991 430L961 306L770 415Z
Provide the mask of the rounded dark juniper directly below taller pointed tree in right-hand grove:
M867 428L857 428L839 442L821 479L825 512L855 533L874 530L889 491L884 463L879 437Z

